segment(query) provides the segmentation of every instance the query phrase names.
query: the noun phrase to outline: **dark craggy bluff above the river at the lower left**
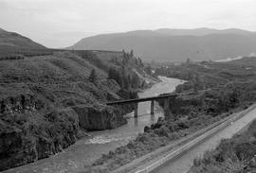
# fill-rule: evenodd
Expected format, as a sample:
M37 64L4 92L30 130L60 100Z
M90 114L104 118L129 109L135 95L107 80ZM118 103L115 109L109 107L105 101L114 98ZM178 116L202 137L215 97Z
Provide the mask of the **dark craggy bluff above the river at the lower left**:
M79 137L78 117L71 109L0 116L0 170L46 158Z

